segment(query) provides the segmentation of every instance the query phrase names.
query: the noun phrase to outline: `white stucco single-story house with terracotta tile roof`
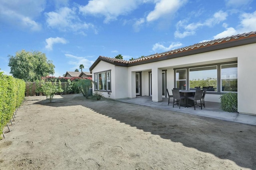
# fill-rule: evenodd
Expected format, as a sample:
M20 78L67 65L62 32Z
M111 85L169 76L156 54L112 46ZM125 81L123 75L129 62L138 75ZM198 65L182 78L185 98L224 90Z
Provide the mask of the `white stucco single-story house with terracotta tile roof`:
M189 90L190 81L210 78L216 90L205 101L220 102L220 95L236 91L238 112L256 115L256 31L216 39L124 61L98 57L90 67L93 91L112 99L152 96L162 101L166 88ZM230 90L231 89L231 90Z

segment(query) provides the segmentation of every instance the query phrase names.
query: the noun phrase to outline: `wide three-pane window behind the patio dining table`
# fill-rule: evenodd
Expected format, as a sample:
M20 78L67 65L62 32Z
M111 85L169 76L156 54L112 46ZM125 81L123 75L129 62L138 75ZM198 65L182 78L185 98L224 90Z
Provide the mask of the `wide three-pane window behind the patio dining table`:
M207 87L209 93L237 92L237 61L174 68L175 87L182 90Z

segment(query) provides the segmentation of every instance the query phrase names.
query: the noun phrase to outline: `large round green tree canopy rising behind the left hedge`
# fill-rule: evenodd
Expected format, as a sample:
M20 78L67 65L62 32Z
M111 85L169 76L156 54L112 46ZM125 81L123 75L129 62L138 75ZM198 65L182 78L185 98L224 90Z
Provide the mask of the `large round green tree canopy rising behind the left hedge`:
M47 60L44 53L40 51L28 52L25 50L16 52L15 56L8 55L10 73L15 78L20 78L26 82L41 80L41 77L54 74L54 64Z

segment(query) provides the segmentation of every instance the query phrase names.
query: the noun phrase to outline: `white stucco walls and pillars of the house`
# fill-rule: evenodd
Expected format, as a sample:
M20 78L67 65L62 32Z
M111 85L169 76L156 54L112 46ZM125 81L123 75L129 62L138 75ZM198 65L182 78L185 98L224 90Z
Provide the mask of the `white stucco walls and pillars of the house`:
M92 70L94 73L111 70L111 92L102 92L106 98L136 98L136 72L141 76L141 96L150 96L150 74L152 74L152 101L162 101L162 71L166 72L166 88L175 87L174 68L238 63L238 112L256 114L256 95L249 92L256 84L256 43L209 51L184 57L154 61L134 66L118 66L100 61ZM171 92L171 90L169 90ZM250 95L249 95L250 94ZM206 94L205 101L220 102L220 93Z

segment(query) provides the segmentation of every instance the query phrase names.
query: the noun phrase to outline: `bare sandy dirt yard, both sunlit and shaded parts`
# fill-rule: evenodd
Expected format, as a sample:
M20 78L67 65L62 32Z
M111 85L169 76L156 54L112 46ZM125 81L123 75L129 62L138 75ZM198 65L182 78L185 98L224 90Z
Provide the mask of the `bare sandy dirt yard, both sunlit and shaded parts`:
M26 97L0 141L1 170L256 169L256 126L80 94L45 99Z

